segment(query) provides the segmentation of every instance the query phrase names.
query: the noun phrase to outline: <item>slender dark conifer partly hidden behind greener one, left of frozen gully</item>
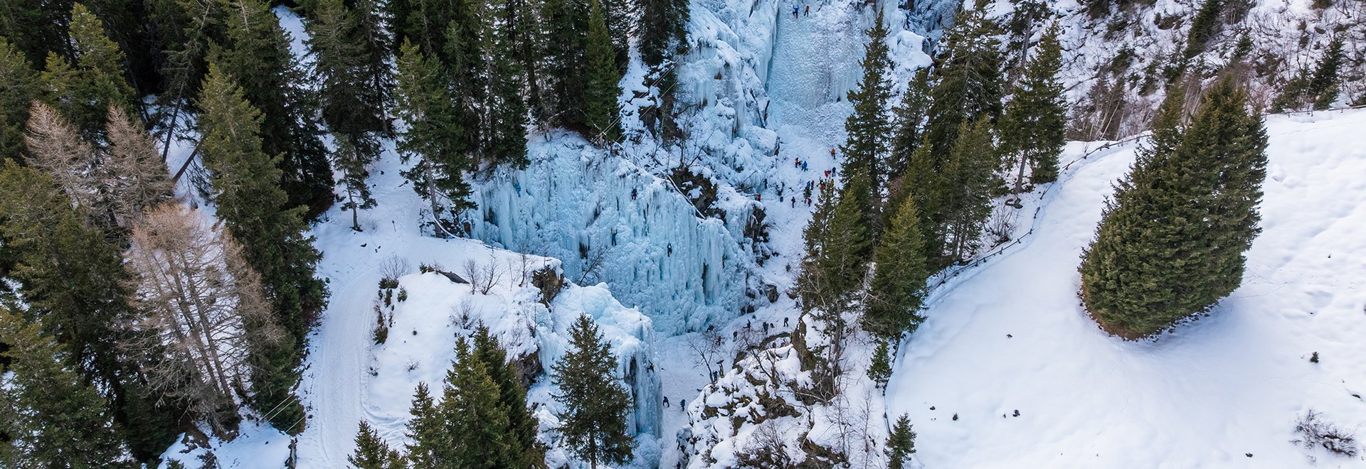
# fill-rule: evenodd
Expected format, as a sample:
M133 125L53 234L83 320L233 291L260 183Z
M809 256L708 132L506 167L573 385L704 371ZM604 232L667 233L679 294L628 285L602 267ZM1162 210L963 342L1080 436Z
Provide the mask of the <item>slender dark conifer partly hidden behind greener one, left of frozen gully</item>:
M473 356L484 363L489 376L499 384L499 404L508 419L507 428L512 454L520 455L510 466L526 468L544 464L545 450L535 439L541 424L526 408L526 387L516 369L507 361L507 352L489 335L488 327L479 326L475 330Z

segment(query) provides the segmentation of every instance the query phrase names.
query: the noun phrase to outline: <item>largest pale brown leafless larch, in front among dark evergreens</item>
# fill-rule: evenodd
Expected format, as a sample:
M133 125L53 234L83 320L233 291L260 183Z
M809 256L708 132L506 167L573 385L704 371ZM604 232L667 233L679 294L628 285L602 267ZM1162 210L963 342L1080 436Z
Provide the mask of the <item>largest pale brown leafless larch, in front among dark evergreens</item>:
M161 353L149 384L184 399L217 434L245 397L253 346L284 338L260 274L221 226L179 203L152 209L133 229L127 269L135 305L133 353Z

